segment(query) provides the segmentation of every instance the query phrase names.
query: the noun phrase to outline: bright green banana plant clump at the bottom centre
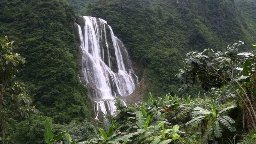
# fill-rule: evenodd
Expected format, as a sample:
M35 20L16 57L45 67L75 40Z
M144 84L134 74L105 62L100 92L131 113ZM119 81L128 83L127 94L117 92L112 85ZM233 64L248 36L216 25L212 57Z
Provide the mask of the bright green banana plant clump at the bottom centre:
M180 140L179 126L175 125L173 128L165 129L165 125L170 125L164 119L164 114L161 112L150 114L146 111L137 111L135 114L137 128L135 132L129 132L124 135L123 140L132 140L137 144L168 144L171 141L176 143ZM162 119L159 119L161 117Z

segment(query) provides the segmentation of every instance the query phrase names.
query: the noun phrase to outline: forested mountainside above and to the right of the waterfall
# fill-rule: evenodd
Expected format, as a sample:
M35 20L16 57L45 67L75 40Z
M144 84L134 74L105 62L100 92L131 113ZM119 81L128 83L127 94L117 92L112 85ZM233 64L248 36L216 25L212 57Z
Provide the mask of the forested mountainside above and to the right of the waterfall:
M253 3L253 2L251 2ZM250 50L255 41L253 5L229 0L99 0L88 4L83 15L105 19L143 65L149 91L156 95L177 93L175 74L185 52L212 48L223 50L237 40ZM247 4L249 5L249 3ZM246 15L246 11L251 12ZM137 68L140 70L141 68ZM139 73L142 76L141 73Z

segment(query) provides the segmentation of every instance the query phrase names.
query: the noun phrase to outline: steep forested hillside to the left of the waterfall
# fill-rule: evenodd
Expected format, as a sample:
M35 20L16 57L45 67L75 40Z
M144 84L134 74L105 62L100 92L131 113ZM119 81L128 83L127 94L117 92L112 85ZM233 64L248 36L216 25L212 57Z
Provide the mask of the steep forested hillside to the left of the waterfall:
M77 73L74 9L64 0L2 0L0 7L0 33L26 58L18 79L37 108L60 123L91 117Z

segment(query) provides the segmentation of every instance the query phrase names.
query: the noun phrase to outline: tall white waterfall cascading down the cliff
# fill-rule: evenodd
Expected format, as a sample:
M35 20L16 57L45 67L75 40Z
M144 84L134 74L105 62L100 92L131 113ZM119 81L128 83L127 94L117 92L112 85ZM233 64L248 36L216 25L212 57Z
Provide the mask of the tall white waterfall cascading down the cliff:
M98 119L113 114L116 97L131 94L138 84L129 61L128 52L107 22L100 18L80 16L77 24L80 47L83 51L82 71L89 96L95 103Z

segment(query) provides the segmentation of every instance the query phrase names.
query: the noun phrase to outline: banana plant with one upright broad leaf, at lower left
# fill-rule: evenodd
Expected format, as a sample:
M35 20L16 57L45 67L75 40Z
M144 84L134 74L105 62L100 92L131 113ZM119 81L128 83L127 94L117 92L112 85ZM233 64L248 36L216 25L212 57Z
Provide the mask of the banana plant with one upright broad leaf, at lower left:
M61 139L64 141L65 144L75 144L76 141L71 141L70 135L67 131L61 132L60 134L53 137L52 134L52 127L50 125L50 122L48 119L45 120L45 142L47 144L52 144L57 141L60 141Z

